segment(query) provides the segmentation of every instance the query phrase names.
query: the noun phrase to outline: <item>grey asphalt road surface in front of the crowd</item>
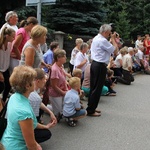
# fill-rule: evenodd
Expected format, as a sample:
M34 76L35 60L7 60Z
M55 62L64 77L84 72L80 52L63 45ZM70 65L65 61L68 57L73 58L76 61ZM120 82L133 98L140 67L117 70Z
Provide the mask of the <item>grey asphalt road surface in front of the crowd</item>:
M150 76L138 74L134 83L118 83L115 90L117 96L101 97L101 117L87 116L76 127L61 120L43 150L150 150Z

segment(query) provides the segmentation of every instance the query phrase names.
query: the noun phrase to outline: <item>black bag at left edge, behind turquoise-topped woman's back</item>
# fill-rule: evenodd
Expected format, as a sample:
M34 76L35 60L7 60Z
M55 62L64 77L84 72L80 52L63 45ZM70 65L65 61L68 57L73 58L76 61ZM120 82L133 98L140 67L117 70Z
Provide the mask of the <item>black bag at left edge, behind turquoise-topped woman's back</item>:
M5 104L2 111L0 112L0 139L2 138L3 133L4 133L6 126L7 126L7 119L5 118L5 114L7 111L7 103Z

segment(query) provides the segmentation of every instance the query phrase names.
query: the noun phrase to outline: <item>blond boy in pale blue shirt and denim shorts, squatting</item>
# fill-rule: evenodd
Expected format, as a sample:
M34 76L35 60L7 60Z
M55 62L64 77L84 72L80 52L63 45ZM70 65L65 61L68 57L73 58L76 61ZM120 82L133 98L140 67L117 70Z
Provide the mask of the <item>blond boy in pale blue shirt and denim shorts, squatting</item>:
M67 91L64 97L63 116L69 126L75 127L78 119L86 116L86 110L81 108L78 91L80 90L81 81L78 77L69 79L71 90Z

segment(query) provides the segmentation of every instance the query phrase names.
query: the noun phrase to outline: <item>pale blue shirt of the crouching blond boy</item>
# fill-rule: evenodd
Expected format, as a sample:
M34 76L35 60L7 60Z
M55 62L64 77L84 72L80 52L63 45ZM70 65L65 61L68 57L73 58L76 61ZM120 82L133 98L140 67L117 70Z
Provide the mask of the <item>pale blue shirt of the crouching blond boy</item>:
M74 89L67 91L64 97L63 115L66 117L76 113L76 108L80 108L80 98L78 92Z

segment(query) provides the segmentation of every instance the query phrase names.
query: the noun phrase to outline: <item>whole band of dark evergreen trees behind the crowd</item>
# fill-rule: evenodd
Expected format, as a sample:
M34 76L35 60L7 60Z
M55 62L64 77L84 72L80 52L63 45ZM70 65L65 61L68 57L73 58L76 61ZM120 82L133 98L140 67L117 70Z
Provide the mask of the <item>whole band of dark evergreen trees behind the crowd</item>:
M19 21L37 15L36 7L26 7L26 0L1 0L1 25L5 13L15 10ZM103 23L114 23L123 39L135 39L137 34L150 33L150 3L148 0L57 0L42 6L42 25L49 33L97 34Z

